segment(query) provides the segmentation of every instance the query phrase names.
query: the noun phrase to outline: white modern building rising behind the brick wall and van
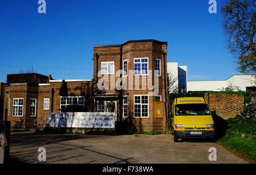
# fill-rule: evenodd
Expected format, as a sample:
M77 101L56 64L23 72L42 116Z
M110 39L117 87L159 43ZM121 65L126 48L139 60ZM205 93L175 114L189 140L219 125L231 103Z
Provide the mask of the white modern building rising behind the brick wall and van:
M167 73L171 80L175 82L169 87L173 91L179 89L179 92L187 91L220 91L230 85L237 86L242 91L246 87L255 86L253 75L234 75L226 80L217 81L188 81L187 65L179 66L178 62L167 62Z

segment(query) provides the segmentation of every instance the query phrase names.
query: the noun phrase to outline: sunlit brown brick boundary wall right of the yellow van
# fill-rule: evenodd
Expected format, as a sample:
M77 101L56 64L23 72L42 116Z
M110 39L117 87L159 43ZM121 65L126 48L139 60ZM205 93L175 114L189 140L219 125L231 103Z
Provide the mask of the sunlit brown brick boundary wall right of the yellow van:
M208 101L211 111L216 111L223 119L232 118L241 113L245 98L244 95L230 93L205 93L204 98Z

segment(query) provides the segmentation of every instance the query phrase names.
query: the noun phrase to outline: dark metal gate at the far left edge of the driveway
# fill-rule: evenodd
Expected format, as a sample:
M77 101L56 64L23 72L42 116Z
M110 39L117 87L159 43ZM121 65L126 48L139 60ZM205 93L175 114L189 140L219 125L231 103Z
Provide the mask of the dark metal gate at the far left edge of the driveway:
M7 145L5 143L7 143ZM9 163L9 155L10 155L10 122L5 122L0 120L0 164Z

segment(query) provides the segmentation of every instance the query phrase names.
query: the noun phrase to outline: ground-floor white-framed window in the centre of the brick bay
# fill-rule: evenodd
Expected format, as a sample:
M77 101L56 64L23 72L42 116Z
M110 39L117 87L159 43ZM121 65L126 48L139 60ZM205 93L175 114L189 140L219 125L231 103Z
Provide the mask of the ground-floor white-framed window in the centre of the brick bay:
M134 117L148 118L148 95L134 95Z

